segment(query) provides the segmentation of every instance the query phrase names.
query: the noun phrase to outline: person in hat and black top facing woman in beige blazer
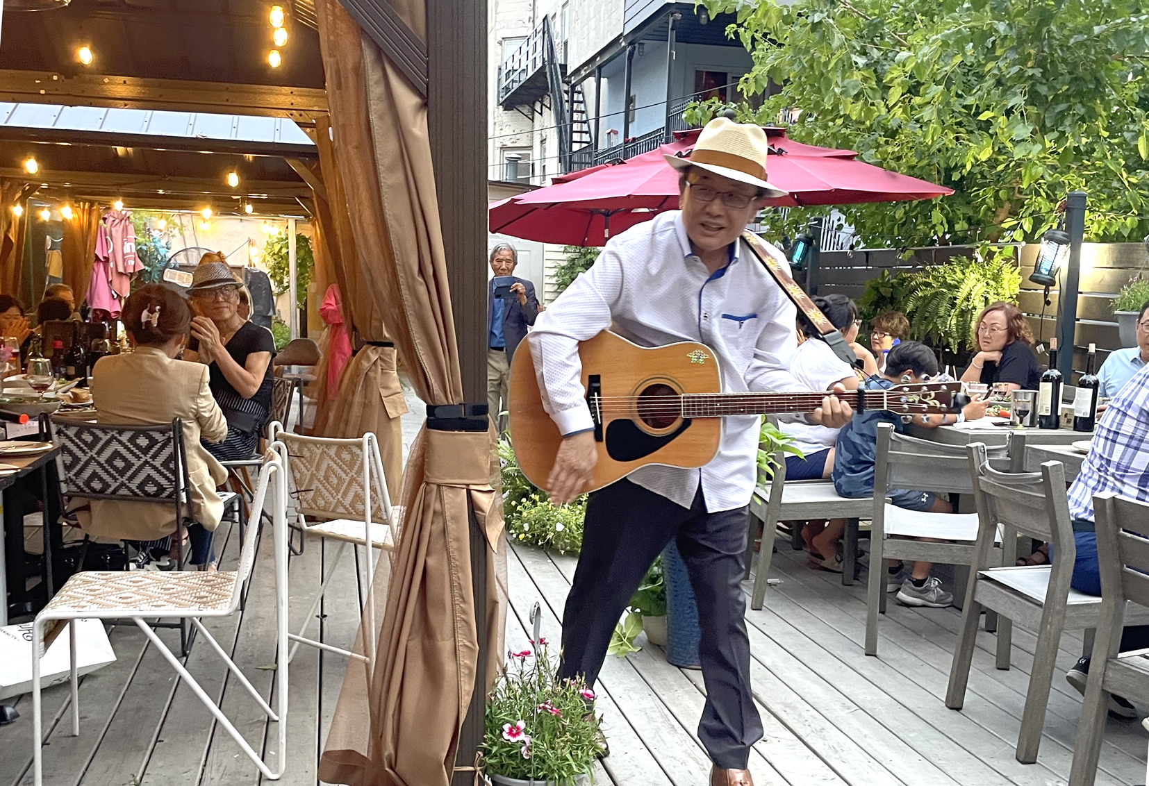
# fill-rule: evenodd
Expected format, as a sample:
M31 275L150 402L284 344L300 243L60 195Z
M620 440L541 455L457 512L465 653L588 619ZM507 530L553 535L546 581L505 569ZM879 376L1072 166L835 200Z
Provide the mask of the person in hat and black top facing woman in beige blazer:
M184 359L208 364L211 394L228 418L228 438L203 445L221 461L250 458L271 411L275 339L240 313L239 293L223 254L205 254L187 288L198 316Z

